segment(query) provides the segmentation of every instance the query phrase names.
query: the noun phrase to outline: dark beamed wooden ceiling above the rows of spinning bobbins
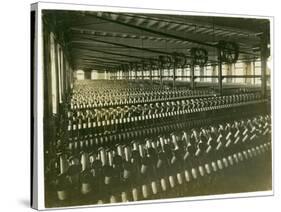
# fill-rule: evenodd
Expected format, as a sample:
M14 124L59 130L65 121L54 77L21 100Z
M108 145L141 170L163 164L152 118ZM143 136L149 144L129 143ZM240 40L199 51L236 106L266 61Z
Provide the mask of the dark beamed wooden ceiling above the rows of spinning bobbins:
M74 69L110 70L159 55L190 49L208 51L208 64L217 63L220 40L239 45L239 60L260 57L261 34L269 20L211 16L44 10L45 23L61 35Z

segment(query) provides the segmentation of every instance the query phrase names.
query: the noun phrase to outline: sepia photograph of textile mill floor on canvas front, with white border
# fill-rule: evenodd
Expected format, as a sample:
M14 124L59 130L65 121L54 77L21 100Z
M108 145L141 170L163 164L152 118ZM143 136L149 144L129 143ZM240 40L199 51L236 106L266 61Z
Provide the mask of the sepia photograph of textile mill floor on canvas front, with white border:
M35 13L45 208L272 192L272 19Z

